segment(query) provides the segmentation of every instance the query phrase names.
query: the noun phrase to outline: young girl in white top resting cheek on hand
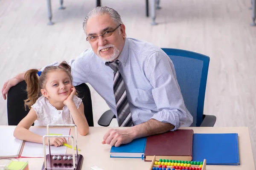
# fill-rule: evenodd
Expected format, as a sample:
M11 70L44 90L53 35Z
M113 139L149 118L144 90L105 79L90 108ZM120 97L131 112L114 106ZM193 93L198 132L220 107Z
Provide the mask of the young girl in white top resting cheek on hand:
M36 69L26 71L28 99L25 107L30 111L17 125L13 135L17 139L43 143L43 136L28 130L33 123L35 126L76 124L78 132L86 135L89 126L84 116L84 105L76 96L72 80L71 68L65 61L59 66L48 66L42 72ZM42 95L38 98L39 93ZM67 143L65 138L49 139L50 145L56 147ZM48 144L48 139L45 143Z

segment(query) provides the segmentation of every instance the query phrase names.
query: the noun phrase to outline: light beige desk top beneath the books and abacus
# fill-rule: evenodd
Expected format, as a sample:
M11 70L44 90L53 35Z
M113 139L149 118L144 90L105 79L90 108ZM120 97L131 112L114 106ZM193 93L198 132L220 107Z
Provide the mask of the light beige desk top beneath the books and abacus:
M32 128L38 127L33 126ZM102 137L110 128L90 127L86 136L78 134L78 148L81 150L79 154L84 156L82 170L90 170L93 166L100 167L103 170L148 170L151 164L150 161L145 162L138 158L110 158L111 145L101 143ZM192 129L194 133L238 133L240 165L207 165L207 170L255 170L248 127L183 127L180 129ZM74 136L74 131L74 128L72 128L70 135ZM68 144L71 144L71 140ZM72 153L72 149L67 148L67 153ZM29 161L29 170L40 169L44 162L44 158L19 158L18 160Z

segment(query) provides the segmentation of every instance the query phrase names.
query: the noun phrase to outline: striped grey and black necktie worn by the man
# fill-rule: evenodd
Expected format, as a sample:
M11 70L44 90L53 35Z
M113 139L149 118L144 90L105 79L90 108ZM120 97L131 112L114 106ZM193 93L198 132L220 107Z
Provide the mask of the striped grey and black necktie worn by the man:
M122 76L119 72L119 60L113 62L106 62L112 70L114 71L114 80L113 80L113 90L114 96L116 99L116 112L117 112L117 122L120 126L133 126L131 119L131 111L129 108L128 99L126 96L125 85L122 79Z

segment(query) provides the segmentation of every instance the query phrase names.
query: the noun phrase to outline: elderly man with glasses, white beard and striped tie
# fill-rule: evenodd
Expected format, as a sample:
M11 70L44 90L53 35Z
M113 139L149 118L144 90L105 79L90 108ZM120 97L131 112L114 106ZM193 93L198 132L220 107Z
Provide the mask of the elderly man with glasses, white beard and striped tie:
M121 17L112 8L94 8L85 17L83 28L91 48L68 62L73 84L92 85L116 115L118 125L131 127L108 130L102 144L118 147L192 124L174 65L160 48L127 38ZM23 79L21 73L7 81L3 98Z

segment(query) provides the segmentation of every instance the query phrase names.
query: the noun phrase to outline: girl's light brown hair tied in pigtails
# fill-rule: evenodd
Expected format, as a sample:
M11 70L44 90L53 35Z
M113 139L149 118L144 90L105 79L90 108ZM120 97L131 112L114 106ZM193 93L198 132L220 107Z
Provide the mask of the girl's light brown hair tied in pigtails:
M26 91L28 98L24 100L25 102L25 110L26 106L31 109L31 106L35 104L38 97L40 97L41 89L45 88L45 83L47 80L47 75L51 71L58 71L62 70L67 73L71 80L71 84L73 82L73 77L71 76L71 67L67 64L66 61L63 61L58 66L47 66L44 71L41 72L40 77L38 77L38 70L37 69L30 69L25 73L25 81L27 84ZM77 95L77 93L76 93Z

